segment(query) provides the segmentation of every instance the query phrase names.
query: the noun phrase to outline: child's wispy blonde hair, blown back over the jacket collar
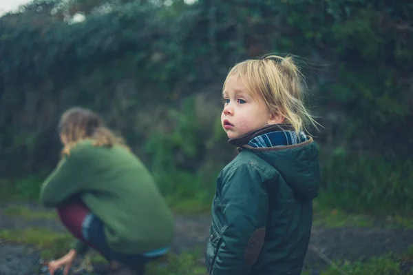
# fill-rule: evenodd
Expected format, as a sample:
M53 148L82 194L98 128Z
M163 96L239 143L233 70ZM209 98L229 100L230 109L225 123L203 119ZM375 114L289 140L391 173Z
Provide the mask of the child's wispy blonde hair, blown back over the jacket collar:
M308 132L308 125L317 128L318 123L304 106L307 92L304 76L292 57L268 55L237 63L226 76L224 87L232 76L240 77L248 92L263 100L271 114L284 116L295 132Z

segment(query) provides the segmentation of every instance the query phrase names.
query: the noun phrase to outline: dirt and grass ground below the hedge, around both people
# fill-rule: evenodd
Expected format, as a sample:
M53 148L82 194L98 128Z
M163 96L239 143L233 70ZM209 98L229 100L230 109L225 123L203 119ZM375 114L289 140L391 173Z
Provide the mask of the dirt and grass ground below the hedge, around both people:
M206 274L202 267L202 256L204 243L209 236L210 222L211 217L208 214L176 214L173 254L192 253L194 249L198 249L198 254L193 252L196 256L184 260L196 262L199 272L196 274ZM67 243L70 240L53 210L46 210L34 203L3 203L0 208L0 229L0 275L36 274L39 259L63 253L64 245L61 245L60 250L56 250L56 246L59 247L59 242ZM408 252L412 244L413 229L406 223L401 223L400 219L376 220L363 216L346 216L334 211L327 214L324 212L315 216L306 267L311 266L313 274L318 274L317 270L325 269L327 265L333 265L330 269L334 269L334 264L330 261L350 263L363 258L383 256L389 252L399 255ZM54 250L49 247L54 247ZM412 256L407 256L406 261L397 263L400 272L409 272L410 258ZM163 269L169 268L169 263L159 264L165 265ZM174 268L178 270L181 267ZM337 272L328 274L340 274Z

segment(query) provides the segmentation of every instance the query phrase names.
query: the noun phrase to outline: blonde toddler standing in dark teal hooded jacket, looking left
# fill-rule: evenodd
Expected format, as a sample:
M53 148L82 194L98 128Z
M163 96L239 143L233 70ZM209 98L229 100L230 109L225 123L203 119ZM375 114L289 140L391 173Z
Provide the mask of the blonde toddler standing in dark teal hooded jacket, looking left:
M221 122L240 154L218 176L209 274L301 274L320 178L304 87L290 57L243 61L226 77Z

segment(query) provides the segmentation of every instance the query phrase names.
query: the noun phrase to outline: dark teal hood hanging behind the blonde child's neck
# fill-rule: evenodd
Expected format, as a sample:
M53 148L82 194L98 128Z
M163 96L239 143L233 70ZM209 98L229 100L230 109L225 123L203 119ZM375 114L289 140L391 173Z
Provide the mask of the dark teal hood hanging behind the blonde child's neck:
M261 159L275 167L286 183L302 199L312 200L317 197L320 170L319 152L313 138L295 145L280 145L275 147L255 148L246 145L253 137L266 132L288 130L289 125L267 125L255 132L248 133L237 139L230 139L229 143L237 145L240 150L251 150Z

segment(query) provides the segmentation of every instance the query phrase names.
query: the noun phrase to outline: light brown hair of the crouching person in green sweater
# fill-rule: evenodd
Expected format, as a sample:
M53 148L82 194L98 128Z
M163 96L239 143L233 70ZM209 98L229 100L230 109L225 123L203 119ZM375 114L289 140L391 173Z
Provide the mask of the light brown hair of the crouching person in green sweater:
M62 155L70 154L70 150L79 141L85 139L93 140L95 146L112 147L115 144L126 146L122 137L116 136L106 128L97 114L80 107L70 108L62 114L59 121L59 134L67 140Z

